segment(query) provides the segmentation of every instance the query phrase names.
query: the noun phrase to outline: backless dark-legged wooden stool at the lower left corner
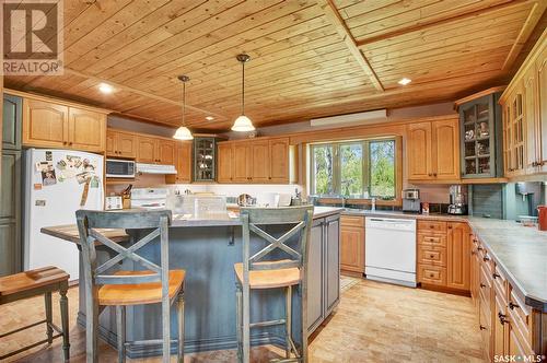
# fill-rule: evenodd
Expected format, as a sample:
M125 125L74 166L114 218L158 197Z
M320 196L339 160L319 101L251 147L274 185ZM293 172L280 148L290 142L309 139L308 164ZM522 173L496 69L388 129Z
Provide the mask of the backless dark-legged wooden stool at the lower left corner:
M70 342L69 342L69 323L68 323L68 280L70 276L57 267L44 267L36 270L25 271L0 278L0 305L15 302L22 298L33 297L44 294L46 306L46 318L40 321L33 323L22 328L18 328L0 335L4 338L18 331L22 331L40 324L46 324L47 338L31 346L18 349L8 354L1 355L0 361L19 354L25 350L37 347L39 344L51 344L54 339L62 337L62 352L65 361L70 358ZM60 311L61 311L61 328L53 323L51 313L51 293L59 292L60 294ZM54 331L57 333L54 335Z

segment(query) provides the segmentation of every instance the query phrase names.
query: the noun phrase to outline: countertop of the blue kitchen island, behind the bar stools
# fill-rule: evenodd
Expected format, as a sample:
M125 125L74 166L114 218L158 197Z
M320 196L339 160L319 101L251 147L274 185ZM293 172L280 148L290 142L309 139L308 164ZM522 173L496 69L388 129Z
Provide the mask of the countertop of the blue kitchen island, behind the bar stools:
M342 208L337 207L315 207L313 211L313 218L324 218L331 214L341 212ZM127 212L119 211L118 213ZM209 214L207 218L187 218L183 214L173 214L173 221L171 227L207 227L207 226L230 226L230 225L241 225L241 220L237 215L229 212L219 212L214 214ZM75 224L63 224L63 225L53 225L43 227L42 233L58 237L72 243L80 243L80 234L78 232L78 226ZM125 230L121 229L107 229L100 230L106 237L113 239L114 242L125 242L129 238Z

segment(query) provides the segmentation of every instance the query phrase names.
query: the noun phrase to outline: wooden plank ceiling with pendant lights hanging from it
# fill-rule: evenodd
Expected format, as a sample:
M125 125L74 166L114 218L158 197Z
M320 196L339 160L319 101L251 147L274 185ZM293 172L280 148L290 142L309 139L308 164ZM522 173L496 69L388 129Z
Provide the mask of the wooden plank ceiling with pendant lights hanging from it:
M200 130L240 114L256 126L453 101L507 82L545 0L71 0L61 77L5 77L8 87ZM538 30L539 28L539 30ZM529 46L524 49L529 50ZM412 80L407 86L397 82ZM115 87L110 95L100 82ZM214 117L207 120L206 116Z

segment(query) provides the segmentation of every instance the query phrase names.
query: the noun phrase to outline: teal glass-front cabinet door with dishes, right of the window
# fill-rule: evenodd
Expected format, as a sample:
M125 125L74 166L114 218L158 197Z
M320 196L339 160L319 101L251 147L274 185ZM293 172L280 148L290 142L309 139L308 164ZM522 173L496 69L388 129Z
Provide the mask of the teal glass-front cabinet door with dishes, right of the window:
M496 177L496 105L487 95L459 107L462 177Z

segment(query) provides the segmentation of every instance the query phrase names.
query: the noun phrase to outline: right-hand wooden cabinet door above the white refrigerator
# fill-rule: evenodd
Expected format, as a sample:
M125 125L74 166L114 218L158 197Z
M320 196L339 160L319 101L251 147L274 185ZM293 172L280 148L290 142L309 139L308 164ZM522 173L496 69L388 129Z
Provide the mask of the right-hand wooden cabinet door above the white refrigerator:
M102 152L106 143L106 115L69 107L68 132L70 148Z

